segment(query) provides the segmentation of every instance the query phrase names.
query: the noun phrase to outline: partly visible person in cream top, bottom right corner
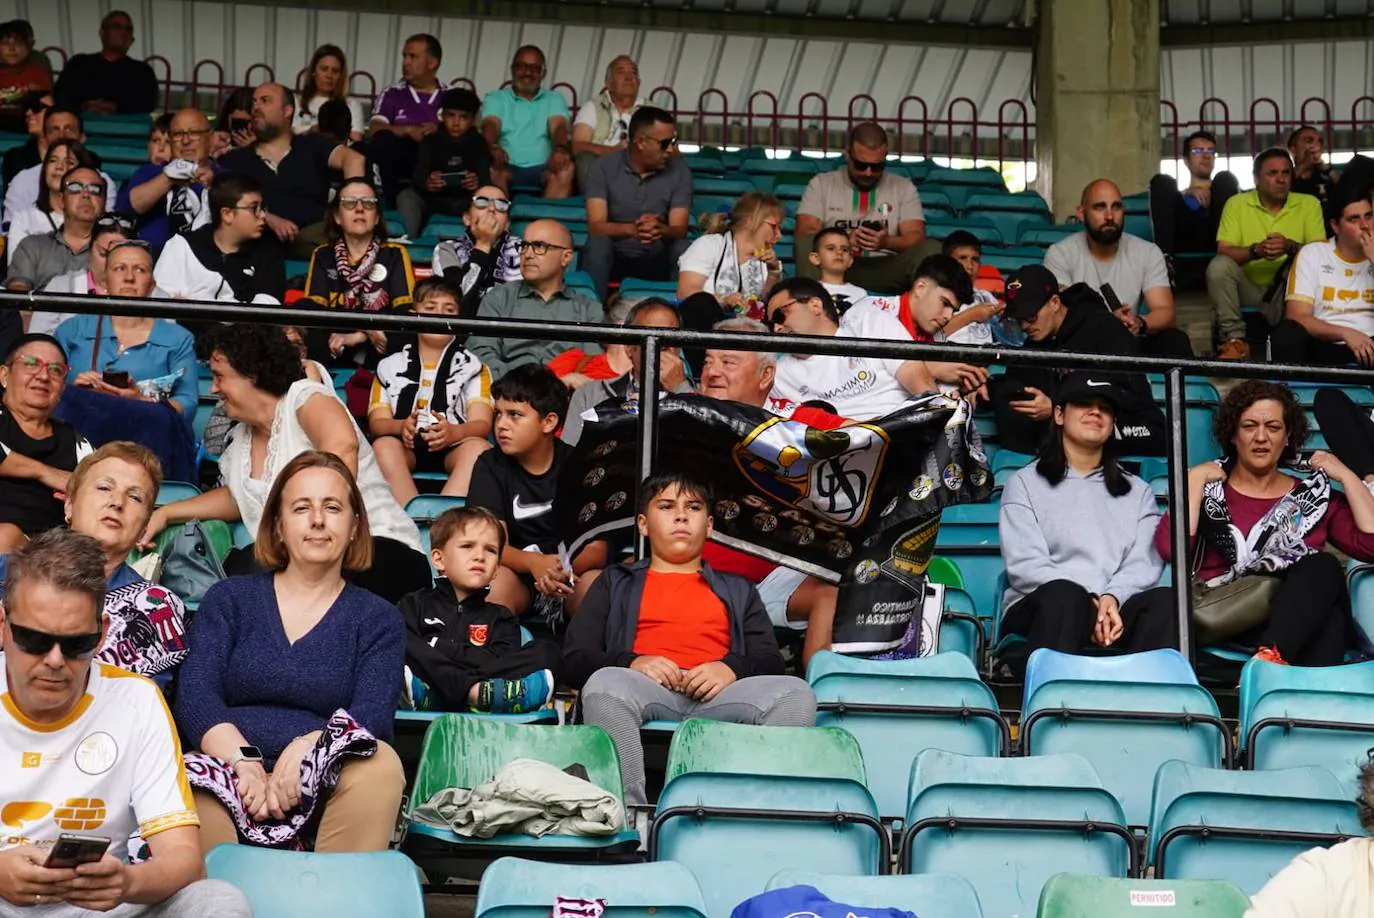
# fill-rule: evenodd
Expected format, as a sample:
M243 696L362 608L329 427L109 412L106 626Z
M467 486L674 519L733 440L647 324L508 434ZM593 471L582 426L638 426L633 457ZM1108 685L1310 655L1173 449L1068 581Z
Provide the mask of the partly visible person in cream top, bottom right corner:
M1344 918L1371 907L1370 858L1374 856L1374 759L1359 765L1355 805L1366 837L1307 851L1270 877L1245 918Z

